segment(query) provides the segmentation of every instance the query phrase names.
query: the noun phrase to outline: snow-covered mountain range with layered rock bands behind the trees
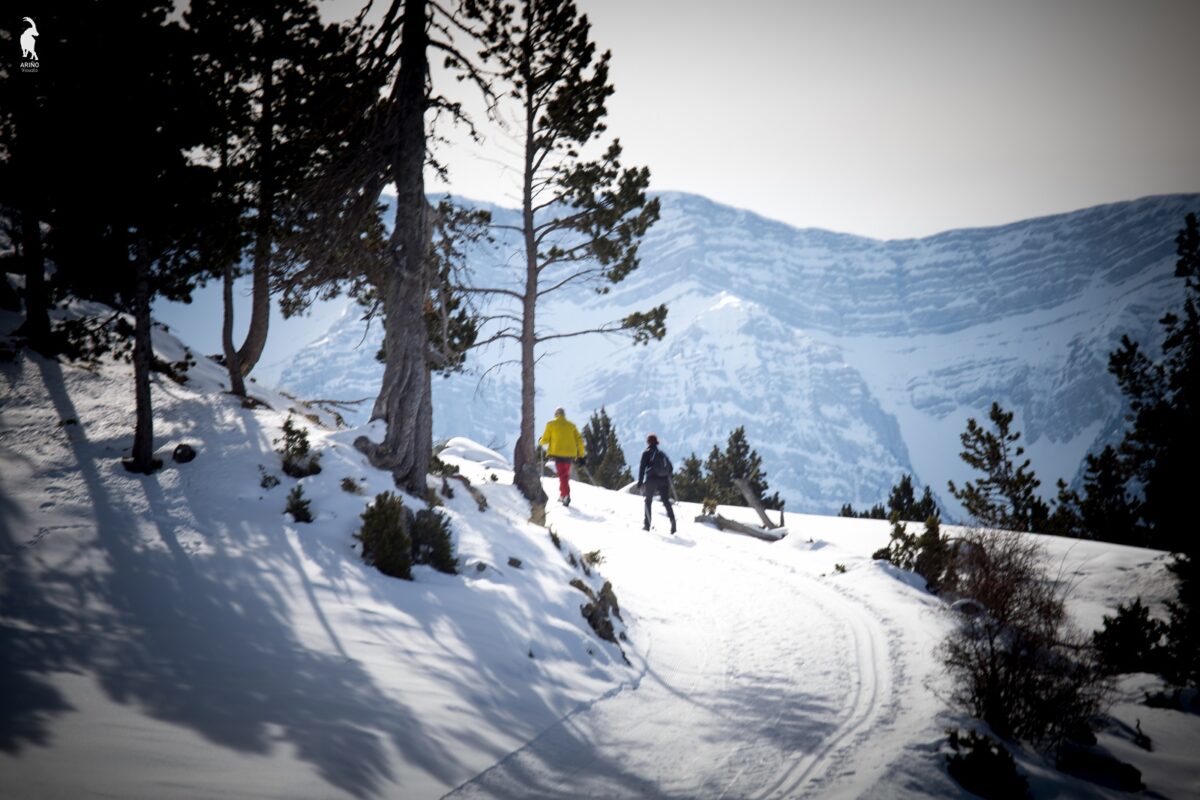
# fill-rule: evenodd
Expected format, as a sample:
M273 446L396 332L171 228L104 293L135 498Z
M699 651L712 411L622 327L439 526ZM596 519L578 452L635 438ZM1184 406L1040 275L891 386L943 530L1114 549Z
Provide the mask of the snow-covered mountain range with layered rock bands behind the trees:
M949 501L946 481L970 477L959 434L992 401L1016 413L1044 491L1074 479L1121 428L1108 354L1122 333L1158 341L1180 296L1175 235L1200 209L1196 194L1154 197L878 241L660 198L641 267L611 294L564 294L540 321L562 331L666 302L666 339L556 343L539 363L539 415L563 405L582 425L604 405L630 461L649 431L677 457L704 456L744 425L772 488L812 512L880 501L906 471ZM502 273L508 246L478 254L478 272ZM364 332L348 309L282 383L373 396L380 330ZM481 351L468 373L436 381L436 435L472 432L510 451L517 374L486 371L511 357Z

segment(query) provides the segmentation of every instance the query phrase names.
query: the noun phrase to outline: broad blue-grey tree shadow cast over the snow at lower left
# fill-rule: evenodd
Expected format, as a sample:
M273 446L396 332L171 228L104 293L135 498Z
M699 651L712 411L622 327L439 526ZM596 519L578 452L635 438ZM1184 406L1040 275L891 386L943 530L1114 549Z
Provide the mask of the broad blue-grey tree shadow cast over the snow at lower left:
M60 419L77 417L61 367L52 361L40 367ZM245 419L253 425L252 414ZM282 525L268 527L265 552L230 554L216 547L191 555L158 476L151 475L137 480L155 510L149 516L160 541L143 542L154 530L126 522L136 518L132 499L110 494L102 476L121 465L95 461L85 437L70 439L108 570L71 575L47 569L32 585L29 566L5 557L0 603L5 618L17 624L0 626L0 748L47 745L49 717L68 708L43 676L82 672L94 674L113 700L216 745L248 753L292 745L298 758L354 796L385 793L394 777L389 744L443 781L454 781L451 756L422 735L408 706L340 651L328 624L332 652L298 638L281 588L266 569L268 561L295 560ZM5 554L17 547L8 529L16 513L0 498ZM73 601L66 607L62 599Z

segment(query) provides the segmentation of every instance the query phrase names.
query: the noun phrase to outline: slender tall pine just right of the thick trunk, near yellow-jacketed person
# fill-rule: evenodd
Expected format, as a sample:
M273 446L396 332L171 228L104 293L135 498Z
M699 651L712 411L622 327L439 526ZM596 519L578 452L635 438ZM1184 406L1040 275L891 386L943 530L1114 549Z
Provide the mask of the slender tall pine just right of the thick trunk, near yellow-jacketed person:
M598 55L592 25L572 0L494 0L488 4L485 58L499 66L504 95L517 106L523 163L522 219L510 228L522 237L521 271L514 285L482 289L506 296L520 330L496 338L521 348L521 432L514 452L515 482L534 506L544 505L535 455L534 367L538 347L583 333L623 333L644 344L666 333L666 307L588 330L542 331L539 302L580 284L605 294L638 266L638 242L659 217L659 201L647 199L650 173L624 168L614 139L600 146L610 53Z

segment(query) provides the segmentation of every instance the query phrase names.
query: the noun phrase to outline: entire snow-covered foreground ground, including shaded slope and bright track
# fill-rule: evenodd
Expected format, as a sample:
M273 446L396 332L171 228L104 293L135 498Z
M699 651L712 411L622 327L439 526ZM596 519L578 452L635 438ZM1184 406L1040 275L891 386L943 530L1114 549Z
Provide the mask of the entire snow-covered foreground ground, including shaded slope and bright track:
M155 347L185 355L162 331ZM295 417L323 467L296 524L272 440L308 409L254 384L265 405L242 408L203 357L187 375L155 377L166 467L136 476L127 365L0 362L0 796L968 796L942 754L967 724L935 655L952 619L870 560L886 523L790 515L769 543L682 504L672 536L656 504L643 533L641 498L576 483L547 530L505 457L456 438L442 458L487 509L451 481L460 575L403 582L353 537L391 488L350 445L378 428ZM170 459L180 443L196 461ZM1044 541L1086 627L1170 594L1160 553ZM612 583L618 643L581 615L576 579ZM1100 742L1150 790L1195 796L1198 717L1138 703L1158 687L1127 678ZM1136 720L1154 752L1132 744ZM1037 796L1123 796L1019 762Z

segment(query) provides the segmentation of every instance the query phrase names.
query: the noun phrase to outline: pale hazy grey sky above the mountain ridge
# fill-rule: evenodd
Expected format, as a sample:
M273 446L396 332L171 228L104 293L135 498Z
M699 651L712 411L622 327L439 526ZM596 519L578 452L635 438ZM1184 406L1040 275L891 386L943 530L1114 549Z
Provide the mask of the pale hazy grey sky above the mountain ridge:
M656 190L878 237L1200 190L1196 0L580 6ZM496 157L454 191L512 204Z

